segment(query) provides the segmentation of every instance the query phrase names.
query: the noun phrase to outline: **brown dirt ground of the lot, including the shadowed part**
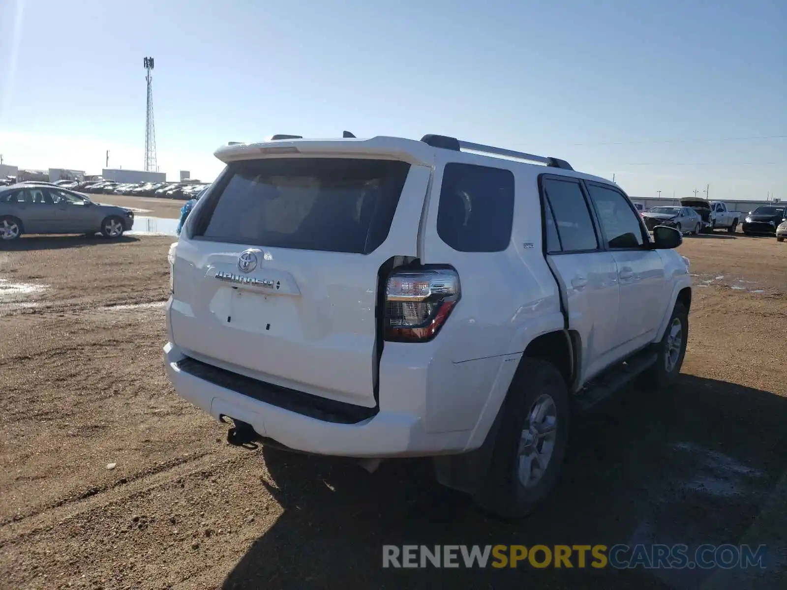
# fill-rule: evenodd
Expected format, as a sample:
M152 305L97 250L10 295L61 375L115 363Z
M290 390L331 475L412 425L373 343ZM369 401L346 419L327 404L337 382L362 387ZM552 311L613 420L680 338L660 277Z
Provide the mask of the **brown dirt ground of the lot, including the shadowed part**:
M381 567L382 544L783 551L787 245L686 238L696 289L678 384L579 419L553 497L506 522L436 485L424 459L368 474L228 446L164 378L171 242L0 249L0 588L787 587L784 569L732 584L706 570Z

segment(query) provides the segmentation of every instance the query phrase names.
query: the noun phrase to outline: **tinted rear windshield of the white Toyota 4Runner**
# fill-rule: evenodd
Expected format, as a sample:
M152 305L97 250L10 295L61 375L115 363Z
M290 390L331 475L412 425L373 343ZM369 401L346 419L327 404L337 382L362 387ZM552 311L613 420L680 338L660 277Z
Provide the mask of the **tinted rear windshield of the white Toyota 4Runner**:
M368 254L385 241L409 164L279 158L230 164L194 237Z

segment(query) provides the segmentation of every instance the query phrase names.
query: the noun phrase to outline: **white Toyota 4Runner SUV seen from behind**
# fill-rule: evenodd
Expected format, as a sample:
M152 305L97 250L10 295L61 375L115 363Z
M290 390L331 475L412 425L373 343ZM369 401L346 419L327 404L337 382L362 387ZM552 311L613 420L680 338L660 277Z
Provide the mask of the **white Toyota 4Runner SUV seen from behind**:
M651 238L608 180L440 135L216 157L170 259L164 364L233 444L434 456L443 484L522 515L572 411L680 370L681 236Z

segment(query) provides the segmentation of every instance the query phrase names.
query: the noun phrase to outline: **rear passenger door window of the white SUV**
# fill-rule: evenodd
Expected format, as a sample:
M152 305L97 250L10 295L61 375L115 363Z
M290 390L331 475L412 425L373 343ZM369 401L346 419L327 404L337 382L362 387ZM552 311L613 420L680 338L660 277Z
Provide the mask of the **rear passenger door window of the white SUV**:
M572 180L543 179L541 186L545 199L548 252L583 252L598 249L596 230L579 183ZM557 227L560 247L555 248L555 238L550 238L551 216Z

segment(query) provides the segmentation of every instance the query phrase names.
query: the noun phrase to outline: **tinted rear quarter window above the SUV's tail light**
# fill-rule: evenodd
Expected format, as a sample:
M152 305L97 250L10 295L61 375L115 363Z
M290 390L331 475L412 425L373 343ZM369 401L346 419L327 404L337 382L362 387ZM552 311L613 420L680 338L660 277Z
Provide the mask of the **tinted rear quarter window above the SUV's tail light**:
M510 170L445 164L438 235L460 252L501 252L511 242L514 175Z

